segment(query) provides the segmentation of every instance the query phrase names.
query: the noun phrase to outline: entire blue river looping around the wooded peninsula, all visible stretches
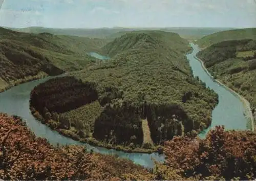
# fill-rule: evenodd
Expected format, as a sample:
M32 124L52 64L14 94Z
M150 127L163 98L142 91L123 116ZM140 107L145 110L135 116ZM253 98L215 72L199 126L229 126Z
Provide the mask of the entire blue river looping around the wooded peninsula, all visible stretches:
M232 95L228 90L219 86L214 82L202 69L201 63L194 58L196 53L199 51L195 44L190 44L194 51L187 55L187 59L192 67L194 76L199 76L199 78L206 83L207 86L214 89L215 92L219 94L219 104L212 112L212 125L223 124L227 129L246 129L246 119L243 115L244 107L241 101L234 95ZM91 56L96 58L107 59L99 54L90 53ZM18 86L12 87L9 90L0 94L0 112L6 112L9 115L18 115L27 122L27 126L36 134L37 137L46 138L51 144L60 145L66 144L76 144L85 145L87 148L94 149L95 152L100 152L103 154L117 154L120 157L130 159L136 164L140 164L144 167L152 168L154 163L152 157L160 162L164 161L164 155L159 155L158 153L125 153L122 151L116 151L113 149L106 149L101 147L94 147L89 144L83 144L63 135L60 135L57 131L51 130L44 124L36 121L31 115L29 109L29 99L31 90L38 84L45 82L52 77L47 77L40 80L35 80L20 84ZM200 136L204 137L208 129L201 133Z

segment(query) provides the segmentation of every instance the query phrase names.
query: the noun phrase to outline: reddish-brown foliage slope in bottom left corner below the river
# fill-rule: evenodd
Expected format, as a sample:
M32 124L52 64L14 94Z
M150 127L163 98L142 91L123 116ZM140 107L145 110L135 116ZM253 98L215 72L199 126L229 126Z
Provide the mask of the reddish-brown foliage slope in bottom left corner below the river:
M153 179L141 166L81 146L53 147L18 117L0 114L0 178L5 180Z

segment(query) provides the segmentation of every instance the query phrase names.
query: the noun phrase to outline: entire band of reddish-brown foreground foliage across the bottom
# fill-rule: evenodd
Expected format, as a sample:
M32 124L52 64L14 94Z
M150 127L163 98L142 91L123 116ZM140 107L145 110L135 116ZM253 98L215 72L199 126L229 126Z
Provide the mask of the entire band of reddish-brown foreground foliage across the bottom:
M143 169L82 146L54 147L18 116L0 114L0 179L4 180L253 180L256 134L217 126L206 139L174 137L166 162Z

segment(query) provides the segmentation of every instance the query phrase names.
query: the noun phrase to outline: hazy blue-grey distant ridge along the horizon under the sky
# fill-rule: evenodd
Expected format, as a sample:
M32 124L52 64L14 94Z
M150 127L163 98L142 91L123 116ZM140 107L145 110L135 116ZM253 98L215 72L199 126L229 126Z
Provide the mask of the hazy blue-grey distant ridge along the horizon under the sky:
M230 30L234 28L221 28L221 27L113 27L113 28L45 28L45 27L27 27L27 28L8 28L18 32L26 33L44 33L48 32L51 34L58 35L73 35L81 37L97 37L113 39L119 37L127 32L138 31L138 30L163 30L165 32L178 33L182 38L186 39L198 39L202 36L212 34L219 31Z

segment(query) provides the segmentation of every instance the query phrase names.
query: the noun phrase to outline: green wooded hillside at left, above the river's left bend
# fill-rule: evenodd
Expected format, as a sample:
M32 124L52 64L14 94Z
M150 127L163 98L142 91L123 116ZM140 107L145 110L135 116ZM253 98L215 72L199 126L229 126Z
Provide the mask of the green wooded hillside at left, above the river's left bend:
M0 89L42 75L81 70L95 61L105 40L50 33L20 33L0 28Z

